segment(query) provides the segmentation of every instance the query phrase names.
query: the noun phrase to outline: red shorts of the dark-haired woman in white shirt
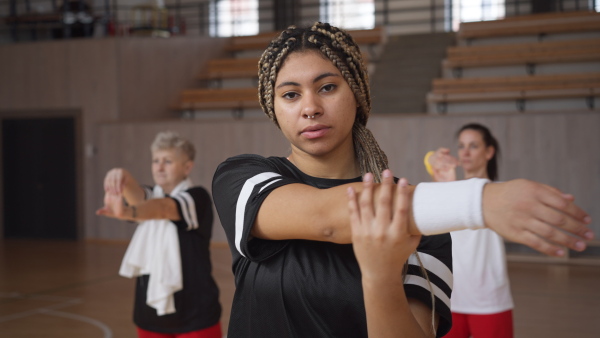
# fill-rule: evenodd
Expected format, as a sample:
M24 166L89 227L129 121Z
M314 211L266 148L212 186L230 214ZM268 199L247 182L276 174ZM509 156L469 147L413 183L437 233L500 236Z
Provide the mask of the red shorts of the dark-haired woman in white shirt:
M452 312L452 329L444 338L512 338L512 310L489 315Z

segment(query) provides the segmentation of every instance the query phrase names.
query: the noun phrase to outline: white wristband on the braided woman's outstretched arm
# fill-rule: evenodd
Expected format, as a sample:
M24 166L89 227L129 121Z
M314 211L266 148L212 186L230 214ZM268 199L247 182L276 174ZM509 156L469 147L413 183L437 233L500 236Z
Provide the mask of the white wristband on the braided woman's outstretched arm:
M484 178L454 182L420 183L413 196L413 215L423 235L484 228Z

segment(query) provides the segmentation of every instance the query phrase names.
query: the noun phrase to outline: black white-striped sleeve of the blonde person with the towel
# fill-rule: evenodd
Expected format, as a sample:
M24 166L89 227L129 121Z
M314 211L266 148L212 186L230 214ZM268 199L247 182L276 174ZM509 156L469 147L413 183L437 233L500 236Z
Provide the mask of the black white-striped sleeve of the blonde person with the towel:
M188 190L169 196L177 205L179 221L173 223L184 230L200 230L208 228L208 235L212 233L213 211L210 194L202 187L193 187Z

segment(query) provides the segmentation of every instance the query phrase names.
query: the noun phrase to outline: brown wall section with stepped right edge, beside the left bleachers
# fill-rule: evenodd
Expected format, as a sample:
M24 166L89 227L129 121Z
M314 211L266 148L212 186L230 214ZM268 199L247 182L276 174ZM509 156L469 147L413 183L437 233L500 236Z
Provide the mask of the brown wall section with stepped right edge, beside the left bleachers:
M118 81L121 119L176 116L169 111L182 89L195 80L207 60L221 56L225 39L121 39Z

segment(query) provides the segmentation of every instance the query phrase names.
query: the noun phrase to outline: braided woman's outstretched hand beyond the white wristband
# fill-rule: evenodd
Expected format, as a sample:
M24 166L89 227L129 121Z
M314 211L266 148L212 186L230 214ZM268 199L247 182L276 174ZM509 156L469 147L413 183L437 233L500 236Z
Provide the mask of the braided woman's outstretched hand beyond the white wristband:
M483 218L502 237L551 256L563 256L566 246L585 249L594 233L591 218L572 195L545 184L512 180L489 183L483 190Z

